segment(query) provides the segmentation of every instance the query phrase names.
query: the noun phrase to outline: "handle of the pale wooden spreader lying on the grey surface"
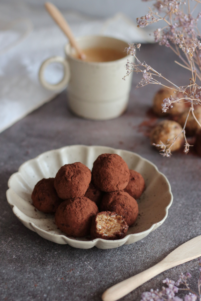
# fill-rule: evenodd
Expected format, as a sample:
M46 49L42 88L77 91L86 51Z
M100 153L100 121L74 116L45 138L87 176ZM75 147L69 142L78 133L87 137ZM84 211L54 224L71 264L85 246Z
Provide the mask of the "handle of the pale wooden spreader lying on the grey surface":
M148 268L146 271L143 271L133 277L130 277L124 281L121 281L112 287L108 288L102 294L103 301L116 301L121 297L127 295L135 288L139 287L146 281L150 280L151 278L155 277L156 275L164 272L168 269L167 265L164 265L163 262L159 262L156 265Z

